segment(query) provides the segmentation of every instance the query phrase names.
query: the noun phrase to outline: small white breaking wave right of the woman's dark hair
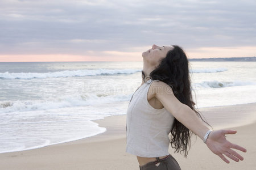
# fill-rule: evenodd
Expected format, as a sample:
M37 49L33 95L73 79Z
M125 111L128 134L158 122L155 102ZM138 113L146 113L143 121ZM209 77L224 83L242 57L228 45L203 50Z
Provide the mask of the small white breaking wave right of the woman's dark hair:
M201 83L195 83L194 86L199 88L223 88L223 87L232 87L232 86L250 86L256 85L256 82L242 82L242 81L234 81L234 82L225 82L225 81L204 81Z

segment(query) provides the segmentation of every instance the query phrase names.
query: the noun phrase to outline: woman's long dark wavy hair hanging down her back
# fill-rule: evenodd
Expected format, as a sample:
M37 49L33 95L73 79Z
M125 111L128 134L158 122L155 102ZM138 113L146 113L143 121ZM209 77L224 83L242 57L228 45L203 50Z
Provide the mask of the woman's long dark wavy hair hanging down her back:
M175 97L181 103L188 105L203 120L200 112L194 107L188 67L189 62L185 52L179 46L174 45L174 49L170 50L160 61L158 67L150 73L150 79L167 83L172 88ZM142 78L145 81L144 76L142 71ZM192 132L175 118L171 134L172 148L175 148L175 152L183 151L184 156L187 157Z

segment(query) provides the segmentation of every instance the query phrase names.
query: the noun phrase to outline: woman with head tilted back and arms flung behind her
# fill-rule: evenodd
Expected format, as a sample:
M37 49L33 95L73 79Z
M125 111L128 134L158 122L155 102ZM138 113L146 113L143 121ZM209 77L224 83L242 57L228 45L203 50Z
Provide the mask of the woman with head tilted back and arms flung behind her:
M226 140L234 130L211 131L194 108L188 59L179 46L157 46L142 53L142 84L131 97L127 109L126 152L137 155L140 169L180 169L169 154L188 154L191 132L222 160L243 160L237 149L246 149ZM168 137L171 134L171 141ZM225 155L225 156L224 156Z

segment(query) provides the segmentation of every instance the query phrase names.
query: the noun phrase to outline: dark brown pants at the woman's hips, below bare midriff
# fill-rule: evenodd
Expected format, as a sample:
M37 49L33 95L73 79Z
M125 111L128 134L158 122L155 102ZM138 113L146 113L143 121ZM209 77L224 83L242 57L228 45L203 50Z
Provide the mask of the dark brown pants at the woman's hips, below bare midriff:
M142 166L139 166L140 170L181 170L177 161L172 157L172 155L168 155L167 158L159 159L156 158L155 162L149 162Z

